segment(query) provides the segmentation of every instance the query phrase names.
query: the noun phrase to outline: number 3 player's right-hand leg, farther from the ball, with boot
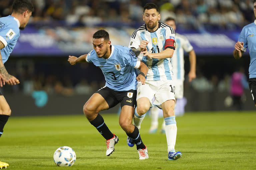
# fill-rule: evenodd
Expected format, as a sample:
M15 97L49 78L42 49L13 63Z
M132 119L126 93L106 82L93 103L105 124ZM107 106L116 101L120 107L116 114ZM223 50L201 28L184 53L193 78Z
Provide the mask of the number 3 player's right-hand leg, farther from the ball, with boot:
M126 93L123 94L120 102L122 109L119 116L119 124L121 128L126 132L127 136L131 138L136 144L139 153L139 159L148 159L147 147L142 142L139 129L132 124L132 119L134 116L134 106L136 105L136 90L134 90L133 94L134 96L132 99L128 99Z

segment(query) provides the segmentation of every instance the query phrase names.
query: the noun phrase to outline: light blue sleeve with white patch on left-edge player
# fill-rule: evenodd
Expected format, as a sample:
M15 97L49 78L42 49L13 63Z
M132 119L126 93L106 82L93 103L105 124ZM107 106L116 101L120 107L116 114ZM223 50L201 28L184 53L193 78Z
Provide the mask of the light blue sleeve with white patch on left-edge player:
M0 30L0 41L3 42L4 46L15 40L17 41L17 36L19 36L19 31L14 28L5 26Z

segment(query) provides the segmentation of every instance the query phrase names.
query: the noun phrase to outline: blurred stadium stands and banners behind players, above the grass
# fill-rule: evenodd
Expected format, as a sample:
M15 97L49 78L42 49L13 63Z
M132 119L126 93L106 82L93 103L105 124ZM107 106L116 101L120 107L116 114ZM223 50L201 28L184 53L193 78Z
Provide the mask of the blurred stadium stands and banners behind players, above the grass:
M0 15L9 15L13 1L0 2ZM250 58L246 52L235 60L232 51L242 27L254 20L250 0L32 2L35 12L5 64L21 81L1 89L13 116L82 113L83 104L105 80L92 64L71 66L68 55L80 56L93 49L92 35L98 29L110 33L112 44L128 46L130 35L143 24L141 14L148 2L158 4L162 21L169 16L176 18L176 32L189 39L197 54L197 78L192 83L185 79L184 84L186 111L236 109L226 106L230 103L230 77L240 67L248 77ZM187 54L185 70L187 74ZM242 99L244 110L254 109L248 89ZM66 108L70 101L72 106ZM118 107L107 112L117 112Z

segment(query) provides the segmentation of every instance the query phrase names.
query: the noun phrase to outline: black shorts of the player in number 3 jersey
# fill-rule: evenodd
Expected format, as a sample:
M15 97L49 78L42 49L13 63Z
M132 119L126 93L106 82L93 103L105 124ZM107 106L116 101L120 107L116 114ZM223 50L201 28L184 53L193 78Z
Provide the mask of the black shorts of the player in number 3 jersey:
M106 100L109 109L115 107L118 103L121 104L121 108L124 105L132 106L135 108L137 105L137 90L115 91L108 87L103 87L96 93L99 93Z

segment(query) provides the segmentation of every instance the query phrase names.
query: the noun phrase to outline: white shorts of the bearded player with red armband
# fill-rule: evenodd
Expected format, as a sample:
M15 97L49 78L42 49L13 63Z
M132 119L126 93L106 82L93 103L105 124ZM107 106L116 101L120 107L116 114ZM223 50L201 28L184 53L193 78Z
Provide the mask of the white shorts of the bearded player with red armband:
M172 80L146 80L146 83L144 85L142 85L141 82L138 82L136 100L141 97L146 97L151 102L151 107L153 104L161 108L161 104L166 102L167 100L175 101L174 92L175 87ZM154 97L155 100L152 102Z

